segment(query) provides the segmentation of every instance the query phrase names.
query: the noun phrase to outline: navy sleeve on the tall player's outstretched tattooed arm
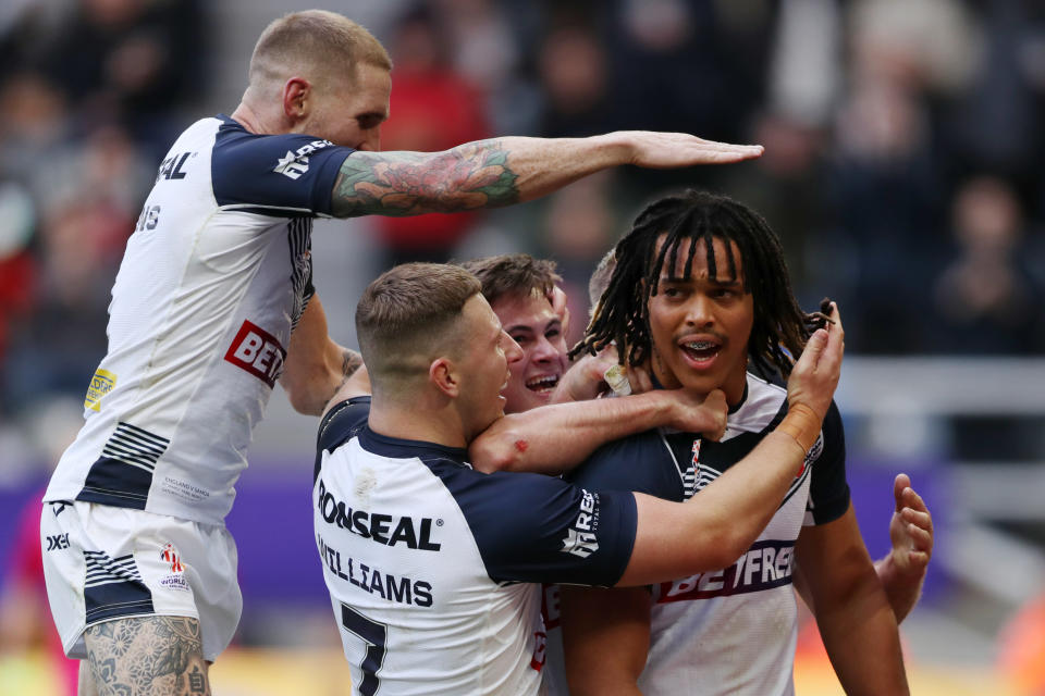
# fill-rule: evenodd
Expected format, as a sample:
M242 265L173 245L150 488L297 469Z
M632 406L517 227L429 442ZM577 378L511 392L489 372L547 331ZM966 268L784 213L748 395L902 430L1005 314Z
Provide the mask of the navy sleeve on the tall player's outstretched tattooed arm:
M334 181L354 150L309 135L256 135L218 117L211 181L219 206L281 217L330 214Z

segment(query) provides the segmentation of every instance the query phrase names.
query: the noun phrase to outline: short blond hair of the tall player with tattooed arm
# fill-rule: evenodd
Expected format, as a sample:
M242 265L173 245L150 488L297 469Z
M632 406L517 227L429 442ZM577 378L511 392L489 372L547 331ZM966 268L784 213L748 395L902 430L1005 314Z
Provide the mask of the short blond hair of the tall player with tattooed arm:
M249 84L281 84L295 73L355 78L358 65L392 70L392 59L370 32L327 10L293 12L265 28L250 55Z

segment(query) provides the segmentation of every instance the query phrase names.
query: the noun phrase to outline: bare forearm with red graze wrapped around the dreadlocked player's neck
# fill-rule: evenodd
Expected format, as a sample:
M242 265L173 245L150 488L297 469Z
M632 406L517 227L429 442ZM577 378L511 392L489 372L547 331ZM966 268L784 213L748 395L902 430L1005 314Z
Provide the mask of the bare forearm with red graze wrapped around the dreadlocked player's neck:
M663 425L671 412L664 391L542 406L494 421L469 456L479 471L558 474L604 443Z

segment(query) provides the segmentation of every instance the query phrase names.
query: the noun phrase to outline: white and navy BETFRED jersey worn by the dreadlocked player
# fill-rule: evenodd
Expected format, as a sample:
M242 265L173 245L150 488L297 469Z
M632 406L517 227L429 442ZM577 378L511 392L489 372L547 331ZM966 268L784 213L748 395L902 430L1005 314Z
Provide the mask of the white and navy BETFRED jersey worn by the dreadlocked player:
M599 490L638 490L687 500L750 452L787 413L783 387L748 374L745 398L730 410L722 442L693 433L650 431L610 443L569 476ZM698 498L699 499L699 498ZM652 588L650 651L639 679L648 696L794 693L797 607L791 584L802 525L839 518L849 506L845 439L837 408L776 514L733 566ZM546 604L557 612L557 597ZM566 693L562 637L549 622L549 678Z

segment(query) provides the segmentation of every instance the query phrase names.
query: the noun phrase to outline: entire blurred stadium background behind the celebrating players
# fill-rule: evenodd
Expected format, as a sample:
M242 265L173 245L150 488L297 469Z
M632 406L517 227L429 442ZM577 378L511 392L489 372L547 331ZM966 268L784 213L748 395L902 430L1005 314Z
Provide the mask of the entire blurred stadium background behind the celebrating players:
M67 693L25 548L155 167L182 127L238 103L262 27L312 4L0 2L0 693ZM803 304L829 295L846 314L838 401L872 555L888 549L896 472L933 511L924 598L901 627L913 693L1045 694L1045 4L321 4L396 63L385 149L618 128L766 147L490 214L317 224L335 338L355 346L359 291L408 259L551 256L583 316L588 273L643 200L688 185L740 198L780 234ZM229 521L244 618L217 693L346 691L310 533L315 427L276 394L257 432ZM839 692L815 641L796 681Z

